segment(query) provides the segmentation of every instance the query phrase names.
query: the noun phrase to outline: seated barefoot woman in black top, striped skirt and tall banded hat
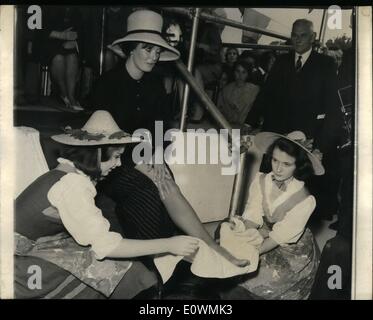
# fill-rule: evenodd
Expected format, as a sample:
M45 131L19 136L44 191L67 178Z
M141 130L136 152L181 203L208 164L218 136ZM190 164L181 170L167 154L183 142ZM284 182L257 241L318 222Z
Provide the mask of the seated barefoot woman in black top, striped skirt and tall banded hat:
M128 17L127 34L114 41L127 59L125 66L103 75L92 97L94 105L107 108L119 126L129 132L147 129L154 137L155 121L162 120L167 130L169 112L165 109L166 92L153 69L158 61L173 61L179 52L162 37L163 19L156 12L138 10ZM159 188L144 172L134 168L131 149L127 148L125 165L116 168L98 189L115 200L116 212L126 235L137 239L169 237L175 230L204 240L236 265L247 261L235 259L218 246L207 233L194 210L173 182L172 197L161 199ZM155 165L153 176L162 180L167 169Z

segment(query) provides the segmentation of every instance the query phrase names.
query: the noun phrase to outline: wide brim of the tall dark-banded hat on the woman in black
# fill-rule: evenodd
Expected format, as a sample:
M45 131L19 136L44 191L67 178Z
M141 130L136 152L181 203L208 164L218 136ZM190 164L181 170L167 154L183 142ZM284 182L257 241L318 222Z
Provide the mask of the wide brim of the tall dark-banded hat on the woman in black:
M180 52L170 46L160 35L147 32L132 33L123 38L115 40L111 45L115 46L125 42L145 42L162 47L159 61L175 61L180 58ZM118 50L117 50L118 51Z

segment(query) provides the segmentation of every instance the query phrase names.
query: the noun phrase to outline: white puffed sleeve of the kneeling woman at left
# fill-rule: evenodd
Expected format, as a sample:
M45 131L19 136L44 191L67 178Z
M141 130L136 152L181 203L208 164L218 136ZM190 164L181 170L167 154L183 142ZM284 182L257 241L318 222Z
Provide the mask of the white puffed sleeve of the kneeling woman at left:
M66 174L48 192L66 230L80 245L91 245L100 260L119 245L122 236L109 231L110 223L96 207L95 196L89 178L77 173Z

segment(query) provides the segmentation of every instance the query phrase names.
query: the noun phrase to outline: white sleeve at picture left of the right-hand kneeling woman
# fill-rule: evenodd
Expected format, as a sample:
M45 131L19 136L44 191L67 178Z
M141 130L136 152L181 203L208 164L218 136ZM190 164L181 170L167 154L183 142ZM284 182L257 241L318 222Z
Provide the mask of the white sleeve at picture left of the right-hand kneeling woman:
M260 189L259 177L263 173L258 172L249 189L249 199L242 214L244 219L250 220L260 227L263 225L262 191Z

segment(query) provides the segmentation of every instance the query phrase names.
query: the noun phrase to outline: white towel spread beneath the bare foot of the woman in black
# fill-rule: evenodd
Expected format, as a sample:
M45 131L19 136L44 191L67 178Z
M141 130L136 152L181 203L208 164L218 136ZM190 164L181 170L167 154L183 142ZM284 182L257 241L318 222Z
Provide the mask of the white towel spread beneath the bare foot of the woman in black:
M175 256L171 254L154 258L154 264L162 276L163 283L168 281L174 272L176 265L182 259L184 259L183 256ZM185 260L189 261L190 257L185 257ZM191 262L192 265L190 270L192 273L202 278L229 278L251 272L253 269L251 264L246 267L237 267L221 256L218 252L211 249L202 240L199 240L198 251L192 258Z

